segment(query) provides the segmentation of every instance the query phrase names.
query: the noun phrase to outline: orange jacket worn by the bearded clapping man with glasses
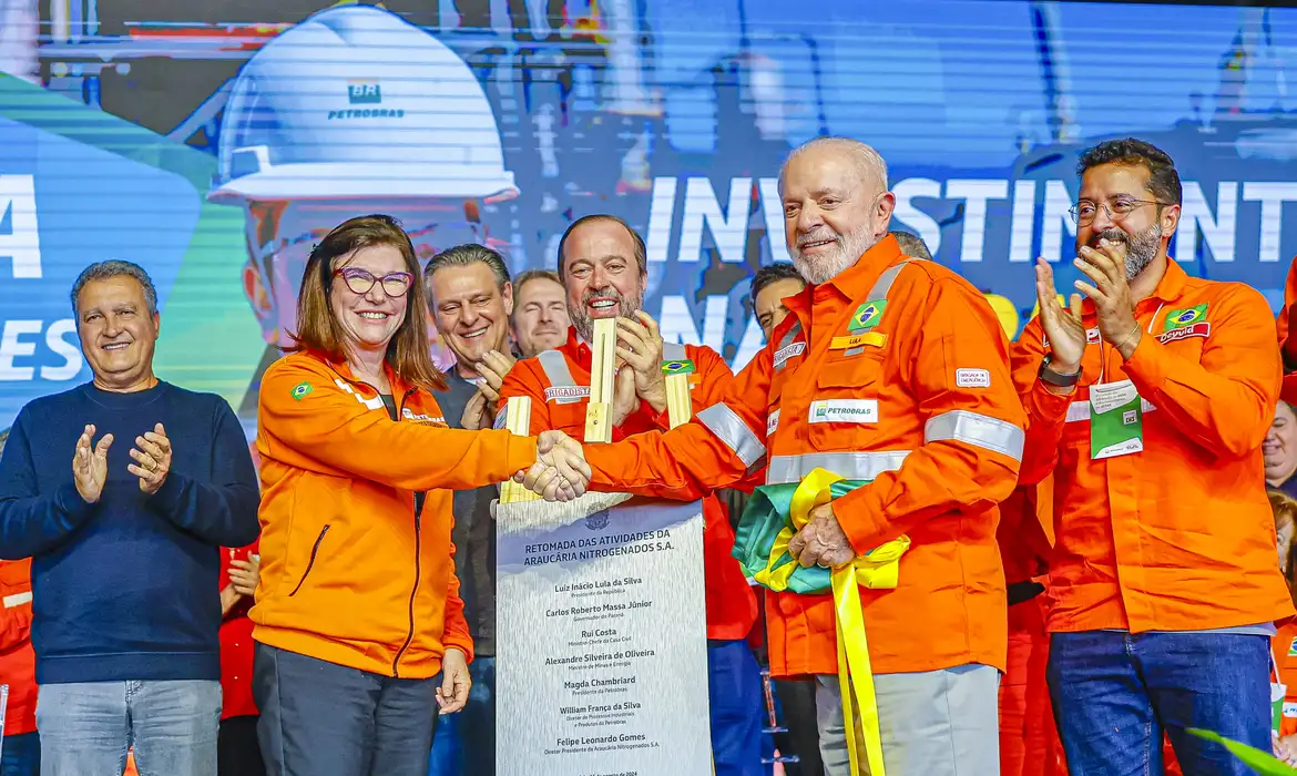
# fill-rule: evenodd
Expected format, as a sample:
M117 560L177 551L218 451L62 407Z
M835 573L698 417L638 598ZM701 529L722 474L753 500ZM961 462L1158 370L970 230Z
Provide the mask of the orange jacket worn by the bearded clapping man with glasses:
M1054 478L1049 631L1195 631L1291 616L1261 461L1281 376L1265 298L1170 261L1135 318L1143 339L1123 362L1086 301L1091 344L1065 396L1039 379L1039 317L1014 348L1030 420L1022 481ZM1141 397L1144 449L1095 461L1089 387L1127 379Z

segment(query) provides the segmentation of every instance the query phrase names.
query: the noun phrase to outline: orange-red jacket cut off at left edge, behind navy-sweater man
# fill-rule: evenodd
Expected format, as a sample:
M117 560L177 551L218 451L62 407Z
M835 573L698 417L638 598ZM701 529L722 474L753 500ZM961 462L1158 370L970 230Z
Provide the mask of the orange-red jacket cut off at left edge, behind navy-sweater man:
M31 561L0 561L0 684L9 685L6 736L36 729L36 653L31 649Z

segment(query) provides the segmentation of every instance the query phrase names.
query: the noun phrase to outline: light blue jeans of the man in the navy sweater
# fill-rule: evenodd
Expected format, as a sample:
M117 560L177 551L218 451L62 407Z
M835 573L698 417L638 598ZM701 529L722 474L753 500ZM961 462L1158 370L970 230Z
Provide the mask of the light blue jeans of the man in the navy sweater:
M40 773L121 773L134 746L140 776L217 776L219 724L214 680L42 685Z

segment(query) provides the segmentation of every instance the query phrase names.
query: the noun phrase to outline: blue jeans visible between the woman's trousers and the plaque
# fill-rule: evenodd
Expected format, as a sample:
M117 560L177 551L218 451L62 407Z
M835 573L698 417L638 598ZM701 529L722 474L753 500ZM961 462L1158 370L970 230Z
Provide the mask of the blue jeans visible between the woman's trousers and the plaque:
M428 758L428 776L494 776L495 773L495 658L468 664L473 686L468 703L437 725Z

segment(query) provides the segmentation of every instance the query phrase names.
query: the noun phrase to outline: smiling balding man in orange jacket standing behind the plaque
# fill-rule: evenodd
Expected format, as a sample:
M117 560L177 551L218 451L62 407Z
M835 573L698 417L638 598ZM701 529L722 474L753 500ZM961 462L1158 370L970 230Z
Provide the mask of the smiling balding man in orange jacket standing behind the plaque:
M687 371L695 411L725 394L734 376L720 354L702 345L664 344L658 324L639 309L647 283L645 244L621 219L586 215L572 223L559 241L559 276L572 319L567 341L514 365L501 387L502 402L532 398L536 433L558 430L582 436L595 318L617 318L617 358L625 362L613 389L613 439L669 428L664 369ZM503 420L499 413L497 424ZM734 529L725 506L706 496L712 757L717 776L761 776L761 673L746 641L756 622L756 596L732 555Z

